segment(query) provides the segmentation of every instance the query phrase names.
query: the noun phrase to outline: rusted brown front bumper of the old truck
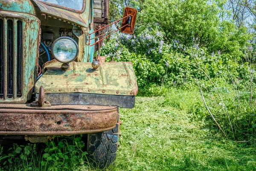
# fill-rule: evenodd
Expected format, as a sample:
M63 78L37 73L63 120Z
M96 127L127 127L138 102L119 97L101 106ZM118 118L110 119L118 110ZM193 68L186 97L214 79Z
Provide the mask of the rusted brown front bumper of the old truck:
M113 129L117 107L0 104L0 135L74 135Z

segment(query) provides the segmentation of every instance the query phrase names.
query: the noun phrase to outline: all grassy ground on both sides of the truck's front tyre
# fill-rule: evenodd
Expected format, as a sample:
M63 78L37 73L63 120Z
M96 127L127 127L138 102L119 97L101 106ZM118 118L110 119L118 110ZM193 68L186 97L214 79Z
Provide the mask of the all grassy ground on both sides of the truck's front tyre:
M153 96L145 94L145 91L141 92L137 97L134 109L120 110L122 136L116 166L104 170L256 170L256 147L224 139L207 112L204 118L195 114L198 104L202 104L197 90L171 88ZM75 144L74 150L69 148L71 143ZM74 140L67 142L68 148L61 150L71 159L74 157L67 160L69 164L65 167L63 160L48 161L48 156L43 156L43 148L35 153L30 150L31 157L26 159L20 159L21 155L26 156L26 150L6 158L2 154L1 170L99 170L86 164L79 146L79 140Z

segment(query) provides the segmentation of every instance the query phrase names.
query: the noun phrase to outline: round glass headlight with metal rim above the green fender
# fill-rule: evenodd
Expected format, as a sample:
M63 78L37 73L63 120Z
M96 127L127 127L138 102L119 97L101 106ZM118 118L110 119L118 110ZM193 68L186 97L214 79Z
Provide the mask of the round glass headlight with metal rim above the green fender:
M70 37L60 37L52 44L52 56L62 63L69 63L78 55L78 45Z

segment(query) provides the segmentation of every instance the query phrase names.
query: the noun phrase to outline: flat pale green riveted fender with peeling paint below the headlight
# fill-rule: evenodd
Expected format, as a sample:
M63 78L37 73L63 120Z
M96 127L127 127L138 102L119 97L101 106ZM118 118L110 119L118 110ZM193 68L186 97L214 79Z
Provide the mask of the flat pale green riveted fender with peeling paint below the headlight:
M94 93L104 95L137 95L138 87L131 62L105 62L92 70L90 62L72 62L67 71L61 63L49 62L45 73L35 84L45 93ZM61 100L61 99L60 99Z

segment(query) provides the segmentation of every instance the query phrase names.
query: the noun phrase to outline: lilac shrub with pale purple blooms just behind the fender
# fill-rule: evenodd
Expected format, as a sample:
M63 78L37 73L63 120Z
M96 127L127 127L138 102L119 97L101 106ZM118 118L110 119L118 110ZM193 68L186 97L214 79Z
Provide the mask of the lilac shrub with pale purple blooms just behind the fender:
M163 41L163 34L148 30L137 36L116 34L103 46L101 53L107 60L132 62L140 87L152 83L192 86L196 77L207 80L198 70L196 61L205 65L211 78L227 79L230 73L241 75L239 64L230 54L209 53L206 48L199 48L196 41L190 48L177 40L169 44Z

